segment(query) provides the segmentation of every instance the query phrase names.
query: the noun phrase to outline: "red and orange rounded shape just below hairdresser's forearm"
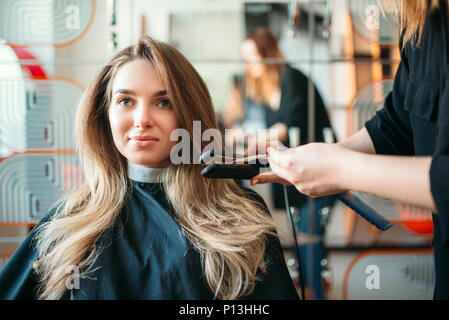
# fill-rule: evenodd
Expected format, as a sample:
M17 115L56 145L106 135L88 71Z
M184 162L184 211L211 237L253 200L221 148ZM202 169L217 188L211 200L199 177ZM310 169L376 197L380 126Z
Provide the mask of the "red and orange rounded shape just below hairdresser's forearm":
M408 230L420 235L433 234L433 220L430 211L405 205L400 205L398 210L400 223Z

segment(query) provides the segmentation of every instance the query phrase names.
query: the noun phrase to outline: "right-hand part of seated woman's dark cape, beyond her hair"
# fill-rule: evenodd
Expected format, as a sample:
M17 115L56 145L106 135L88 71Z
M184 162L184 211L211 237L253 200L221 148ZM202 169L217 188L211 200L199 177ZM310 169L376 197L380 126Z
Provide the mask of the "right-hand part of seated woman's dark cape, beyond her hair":
M250 197L260 203L268 215L270 212L264 200L254 191L246 189ZM254 292L247 296L247 300L298 300L290 273L285 264L279 238L269 235L265 249L267 273L260 274L260 281L256 284Z

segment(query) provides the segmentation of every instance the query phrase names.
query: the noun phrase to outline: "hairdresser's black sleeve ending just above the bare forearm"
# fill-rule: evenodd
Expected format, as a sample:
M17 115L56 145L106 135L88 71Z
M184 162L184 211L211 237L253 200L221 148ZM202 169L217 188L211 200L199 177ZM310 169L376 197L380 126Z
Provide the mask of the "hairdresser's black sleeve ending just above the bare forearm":
M401 62L384 107L365 124L377 154L414 154L413 132L409 112L405 109L407 86L407 65Z

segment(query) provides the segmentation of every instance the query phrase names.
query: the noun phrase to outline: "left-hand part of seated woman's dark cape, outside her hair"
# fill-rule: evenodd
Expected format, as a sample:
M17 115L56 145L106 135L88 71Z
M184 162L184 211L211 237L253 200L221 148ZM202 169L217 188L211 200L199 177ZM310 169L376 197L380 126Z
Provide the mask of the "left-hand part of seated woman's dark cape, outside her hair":
M33 270L33 262L37 258L35 231L54 212L53 208L39 221L0 271L0 300L36 299L38 282Z

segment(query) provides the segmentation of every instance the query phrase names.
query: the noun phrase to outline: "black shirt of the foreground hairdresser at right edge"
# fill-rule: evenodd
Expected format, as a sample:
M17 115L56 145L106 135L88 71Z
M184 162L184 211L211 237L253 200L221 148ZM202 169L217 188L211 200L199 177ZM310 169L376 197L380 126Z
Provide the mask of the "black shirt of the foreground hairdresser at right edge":
M432 156L435 299L449 299L449 73L446 1L428 12L419 48L401 52L393 91L365 127L377 154ZM400 43L402 47L402 40ZM413 174L413 172L410 172Z

